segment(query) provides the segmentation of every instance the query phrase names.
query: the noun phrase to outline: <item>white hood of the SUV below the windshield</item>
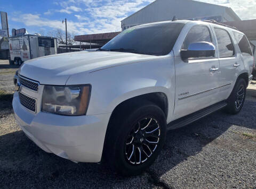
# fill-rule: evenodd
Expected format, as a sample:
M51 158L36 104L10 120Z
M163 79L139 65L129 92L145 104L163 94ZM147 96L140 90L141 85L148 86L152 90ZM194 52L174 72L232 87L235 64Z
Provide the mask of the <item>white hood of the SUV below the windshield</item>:
M91 73L154 57L156 56L114 51L79 51L31 59L22 64L19 74L41 84L65 85L74 74Z

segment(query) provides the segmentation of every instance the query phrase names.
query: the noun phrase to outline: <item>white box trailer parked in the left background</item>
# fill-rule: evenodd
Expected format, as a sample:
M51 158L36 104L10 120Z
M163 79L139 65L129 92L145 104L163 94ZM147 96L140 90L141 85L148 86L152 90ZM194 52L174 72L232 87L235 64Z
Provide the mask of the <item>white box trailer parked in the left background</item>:
M45 36L22 35L9 38L10 64L57 54L57 39Z

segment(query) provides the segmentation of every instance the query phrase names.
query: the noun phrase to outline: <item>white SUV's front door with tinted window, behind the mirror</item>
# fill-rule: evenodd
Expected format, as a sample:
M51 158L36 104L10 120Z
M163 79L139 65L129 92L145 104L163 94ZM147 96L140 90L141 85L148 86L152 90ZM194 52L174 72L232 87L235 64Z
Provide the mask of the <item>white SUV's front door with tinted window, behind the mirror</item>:
M212 42L209 25L194 25L187 33L181 49L193 42ZM177 119L218 102L219 59L213 57L189 58L183 62L175 56L175 107L173 119Z

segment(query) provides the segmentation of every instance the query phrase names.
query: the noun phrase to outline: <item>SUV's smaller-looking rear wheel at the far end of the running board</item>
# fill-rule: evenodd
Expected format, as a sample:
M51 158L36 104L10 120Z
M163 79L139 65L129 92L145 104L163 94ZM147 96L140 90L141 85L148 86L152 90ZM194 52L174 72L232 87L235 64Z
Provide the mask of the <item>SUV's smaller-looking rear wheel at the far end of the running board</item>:
M229 98L227 99L226 111L229 114L238 114L241 111L246 97L246 82L244 79L239 79Z

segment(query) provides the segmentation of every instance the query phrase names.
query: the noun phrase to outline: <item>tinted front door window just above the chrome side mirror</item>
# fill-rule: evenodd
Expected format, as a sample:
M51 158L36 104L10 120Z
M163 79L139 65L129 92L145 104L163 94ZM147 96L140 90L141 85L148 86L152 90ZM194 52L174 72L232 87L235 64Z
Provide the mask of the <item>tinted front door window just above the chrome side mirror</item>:
M212 42L209 29L204 25L195 25L190 29L183 42L182 49L187 50L189 44L193 42Z

